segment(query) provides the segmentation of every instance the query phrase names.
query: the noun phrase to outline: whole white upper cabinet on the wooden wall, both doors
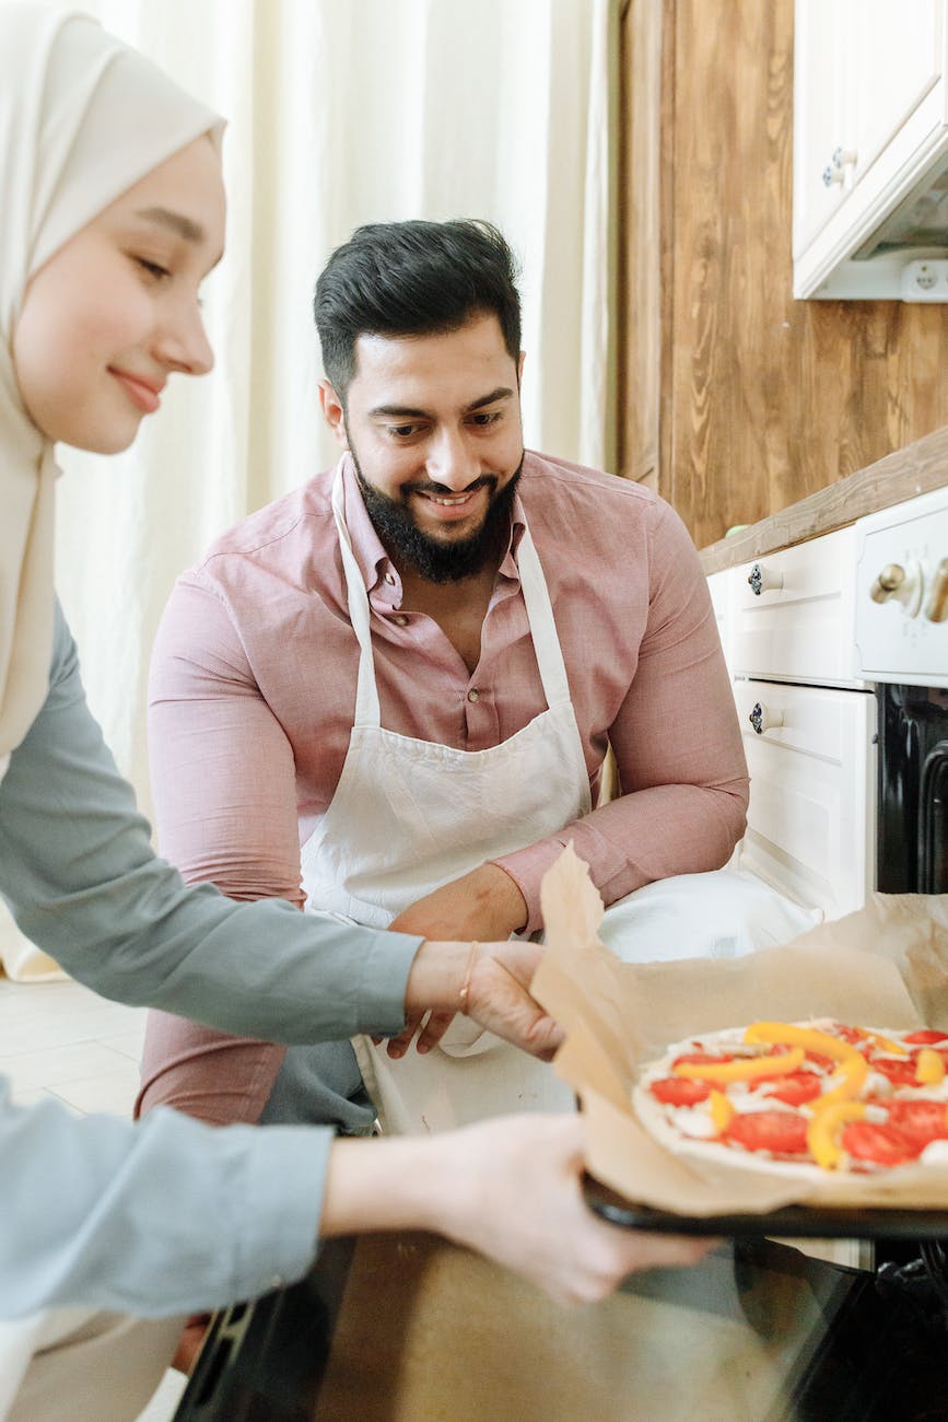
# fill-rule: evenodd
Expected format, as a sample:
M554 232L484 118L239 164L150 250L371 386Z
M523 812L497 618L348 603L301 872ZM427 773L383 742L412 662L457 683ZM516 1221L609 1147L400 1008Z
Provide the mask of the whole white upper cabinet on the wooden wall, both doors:
M948 0L796 0L793 294L903 294L948 257ZM948 276L910 299L948 299Z

